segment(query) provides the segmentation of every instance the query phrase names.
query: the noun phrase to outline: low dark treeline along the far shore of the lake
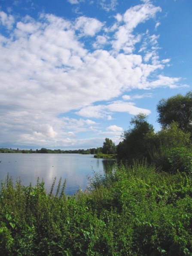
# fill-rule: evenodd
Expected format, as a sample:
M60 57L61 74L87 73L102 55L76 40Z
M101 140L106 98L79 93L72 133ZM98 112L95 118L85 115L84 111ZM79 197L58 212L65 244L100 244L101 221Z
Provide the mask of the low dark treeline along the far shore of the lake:
M90 154L97 154L98 149L92 148L92 149L78 149L78 150L61 150L61 149L46 149L42 148L40 150L19 150L19 149L7 149L7 148L1 148L0 153L41 153L41 154L82 154L82 155L90 155Z

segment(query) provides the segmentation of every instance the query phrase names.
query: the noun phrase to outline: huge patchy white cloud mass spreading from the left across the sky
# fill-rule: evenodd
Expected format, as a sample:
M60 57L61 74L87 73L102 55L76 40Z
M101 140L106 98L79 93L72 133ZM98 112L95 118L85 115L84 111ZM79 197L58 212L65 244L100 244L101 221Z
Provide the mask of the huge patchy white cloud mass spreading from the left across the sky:
M72 133L99 130L92 117L112 120L116 112L149 114L150 110L134 103L104 101L132 89L178 86L180 78L154 73L168 62L160 61L155 50L145 52L146 62L133 53L142 39L134 28L159 11L150 2L131 7L116 15L113 31L85 16L69 21L41 14L38 20L26 16L14 23L12 15L0 12L1 24L10 29L6 36L0 35L0 142L73 146L78 139L68 138ZM92 40L91 46L98 43L101 48L87 49L82 36ZM146 37L145 47L158 40L157 36ZM108 50L102 48L106 44ZM128 95L123 99L129 100ZM69 118L70 110L89 119Z

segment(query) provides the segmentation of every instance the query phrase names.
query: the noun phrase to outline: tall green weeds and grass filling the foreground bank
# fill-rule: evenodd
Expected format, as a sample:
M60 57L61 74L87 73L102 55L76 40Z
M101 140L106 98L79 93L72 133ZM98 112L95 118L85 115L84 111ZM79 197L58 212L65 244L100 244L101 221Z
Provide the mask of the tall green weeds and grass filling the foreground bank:
M192 256L192 178L145 162L94 173L85 192L44 182L0 192L1 255ZM62 187L62 188L61 188ZM61 189L60 189L61 188Z

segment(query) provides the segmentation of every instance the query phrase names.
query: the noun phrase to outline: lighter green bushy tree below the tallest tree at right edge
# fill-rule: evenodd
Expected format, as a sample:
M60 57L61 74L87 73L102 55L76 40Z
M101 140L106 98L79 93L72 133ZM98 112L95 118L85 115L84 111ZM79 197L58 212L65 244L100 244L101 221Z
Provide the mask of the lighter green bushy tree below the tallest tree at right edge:
M150 162L162 171L188 170L187 158L191 159L190 133L179 128L177 122L172 122L168 127L149 137ZM186 152L188 152L186 154ZM185 156L185 157L184 157ZM189 159L188 159L189 160ZM181 168L182 166L182 168Z

